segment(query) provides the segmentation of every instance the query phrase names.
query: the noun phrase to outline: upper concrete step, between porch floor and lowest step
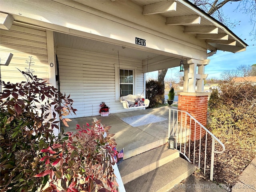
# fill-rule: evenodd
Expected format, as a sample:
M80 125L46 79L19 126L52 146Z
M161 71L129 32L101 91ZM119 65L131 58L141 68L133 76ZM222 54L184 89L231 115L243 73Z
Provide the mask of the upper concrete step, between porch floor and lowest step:
M124 184L176 159L177 150L168 149L168 144L154 148L120 163L119 172Z

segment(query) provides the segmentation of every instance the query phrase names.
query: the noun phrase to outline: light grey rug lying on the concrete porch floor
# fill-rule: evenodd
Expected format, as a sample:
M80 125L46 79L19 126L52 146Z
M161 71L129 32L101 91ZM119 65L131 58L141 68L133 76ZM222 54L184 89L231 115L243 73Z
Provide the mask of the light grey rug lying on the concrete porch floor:
M142 125L147 125L151 123L161 122L167 120L166 118L158 117L152 114L137 115L131 117L121 118L124 122L128 123L132 127L138 127Z

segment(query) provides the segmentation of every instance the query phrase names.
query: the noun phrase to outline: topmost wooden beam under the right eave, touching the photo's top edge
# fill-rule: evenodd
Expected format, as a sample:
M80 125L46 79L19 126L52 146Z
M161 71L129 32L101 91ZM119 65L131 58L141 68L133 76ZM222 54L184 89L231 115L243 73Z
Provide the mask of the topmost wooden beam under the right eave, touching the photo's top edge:
M177 3L173 0L162 1L158 3L153 3L143 6L143 15L166 13L171 11L176 11Z

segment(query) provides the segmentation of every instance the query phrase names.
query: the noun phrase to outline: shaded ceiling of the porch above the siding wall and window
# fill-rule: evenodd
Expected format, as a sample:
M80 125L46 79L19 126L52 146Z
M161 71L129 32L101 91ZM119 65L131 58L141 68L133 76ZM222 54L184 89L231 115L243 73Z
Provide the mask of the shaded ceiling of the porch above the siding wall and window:
M152 72L161 69L177 67L180 64L180 58L174 58L166 55L160 55L153 52L137 50L107 42L101 42L88 38L73 36L60 32L54 32L54 40L57 47L64 47L88 52L119 56L142 60L143 72ZM184 60L186 64L186 59Z

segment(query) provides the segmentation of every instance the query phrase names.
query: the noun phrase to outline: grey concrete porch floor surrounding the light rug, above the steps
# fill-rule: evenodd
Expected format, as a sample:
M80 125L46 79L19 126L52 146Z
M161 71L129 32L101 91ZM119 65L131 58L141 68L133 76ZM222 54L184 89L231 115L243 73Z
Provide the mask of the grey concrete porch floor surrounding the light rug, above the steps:
M101 120L103 125L111 126L109 132L115 134L114 139L117 143L116 149L120 151L122 148L124 148L124 159L127 159L167 142L168 117L170 108L176 109L176 107L173 106L163 106L146 110L127 110L127 112L109 114L106 117L99 115L83 118L73 118L71 122L68 122L69 127L64 128L64 132L75 132L76 124L79 124L80 126L85 125L87 122L92 124L94 121L93 118L97 118L98 120ZM132 127L121 120L121 118L124 117L143 114L153 114L162 118L166 118L166 120L138 127Z

